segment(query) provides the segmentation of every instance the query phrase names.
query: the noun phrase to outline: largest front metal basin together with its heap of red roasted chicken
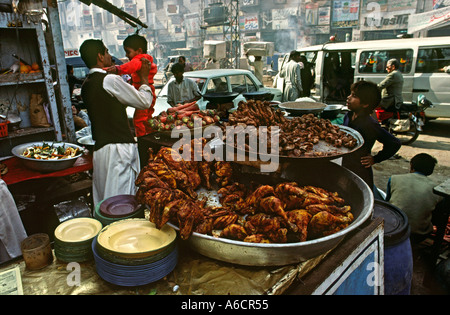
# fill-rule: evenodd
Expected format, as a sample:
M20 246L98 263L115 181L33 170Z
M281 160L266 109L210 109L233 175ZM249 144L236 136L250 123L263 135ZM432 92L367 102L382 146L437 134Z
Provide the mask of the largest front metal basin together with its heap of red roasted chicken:
M205 145L205 142L203 142L203 145ZM203 154L205 152L203 151ZM156 155L151 154L148 165L141 170L136 181L136 185L139 187L136 198L142 204L147 205L150 210L150 221L154 222L157 227L162 227L164 224L171 222L172 226L179 230L180 238L183 241L188 242L194 250L207 257L250 266L280 266L298 263L333 249L349 232L358 228L372 215L373 194L371 189L353 172L330 161L325 161L318 166L313 161L305 160L303 163L297 163L296 165L287 165L282 172L262 173L259 168L248 165L224 161L206 162L208 159L205 158L205 155L203 155L203 159L202 162L194 162L192 164L192 162L182 159L181 155L175 153L173 148L161 148ZM195 166L195 168L192 166ZM196 183L194 184L193 182ZM333 202L338 200L338 198L341 199L339 201L339 209L335 208L333 210L339 211L339 213L336 213L336 218L333 218L334 215L330 216L330 220L341 220L343 218L341 214L345 214L345 217L350 218L348 210L351 211L352 220L346 221L344 225L341 224L343 223L341 221L325 222L329 226L325 226L324 230L318 234L319 236L309 238L310 230L308 230L308 238L299 239L297 237L302 235L293 233L291 234L295 236L293 240L285 239L283 242L275 240L267 243L264 242L264 239L261 240L262 242L258 242L258 240L253 238L250 240L244 238L236 239L227 238L227 235L223 234L222 236L221 233L214 234L210 229L211 226L208 227L208 224L205 224L208 223L206 219L213 218L216 221L215 219L217 218L220 219L219 222L224 220L226 223L227 217L229 217L228 214L233 214L229 211L231 210L230 207L237 206L240 201L228 200L227 205L214 210L205 206L208 200L201 198L199 189L201 190L202 187L206 188L209 194L212 194L208 196L208 199L212 197L210 201L217 202L217 198L213 196L214 193L225 189L224 191L222 190L221 195L227 195L228 190L233 188L232 186L236 183L242 185L236 187L242 187L241 191L248 189L248 191L253 192L249 196L256 198L254 201L257 201L260 205L262 205L263 199L265 201L275 201L276 199L272 199L271 196L273 194L266 193L264 196L256 194L257 191L259 192L260 189L268 186L278 187L285 185L284 188L291 186L290 188L293 189L311 186L315 187L314 189L324 189L331 192L332 195L327 194L323 198L332 198ZM252 186L258 188L255 190L251 188ZM291 194L287 194L289 198L283 200L283 202L287 200L294 206L291 209L299 209L300 205L301 207L305 206L305 198L318 197L309 193L302 194L300 198L303 201L295 198L289 199ZM233 194L230 194L230 196L233 196ZM283 199L279 194L276 196L279 199ZM224 202L224 200L222 201ZM320 205L317 205L321 204L321 202L309 204L314 205L316 208L319 207L316 213L323 212ZM251 205L247 197L245 197L245 202L242 205L244 207L239 212L241 214L244 213L245 216L245 212L247 212L246 206ZM268 202L265 205L271 206L272 204ZM328 205L332 204L324 203L322 206L328 207ZM347 208L347 210L342 210L342 208ZM275 215L274 209L272 207L266 209L270 210L266 214L278 217L279 215L278 213ZM288 207L286 206L285 209L287 211ZM308 207L305 209L308 209ZM278 210L280 209L278 208ZM221 213L219 217L218 212L215 211L225 212L225 215ZM281 209L279 212L287 214L286 211ZM247 212L247 215L252 216L250 219L254 218L254 213ZM236 223L236 221L233 222ZM287 228L292 228L293 232L297 232L293 230L293 226L286 225L290 225L293 221L286 220L283 222ZM312 218L308 223L308 229L311 222ZM223 232L229 228L230 224L223 225ZM338 227L338 229L335 229L335 227ZM219 229L218 226L215 226L215 228ZM245 228L247 229L247 226ZM270 231L269 229L267 232ZM277 230L276 233L280 231ZM255 234L255 236L250 234ZM249 233L248 236L259 237L256 234L261 233ZM281 234L274 235L278 237ZM272 236L267 237L272 238ZM266 236L262 235L262 237L265 238Z

